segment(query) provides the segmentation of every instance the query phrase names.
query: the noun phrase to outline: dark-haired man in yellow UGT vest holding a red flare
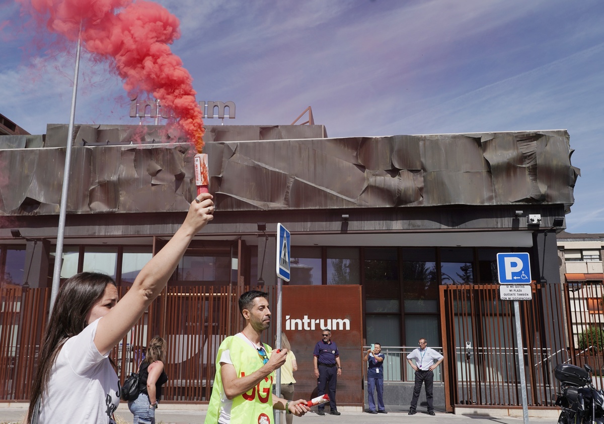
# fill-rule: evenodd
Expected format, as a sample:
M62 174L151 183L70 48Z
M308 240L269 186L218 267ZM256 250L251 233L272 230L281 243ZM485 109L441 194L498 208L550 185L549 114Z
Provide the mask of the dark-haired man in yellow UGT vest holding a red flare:
M272 410L303 416L306 400L272 396L274 371L285 363L287 349L272 352L260 343L271 324L268 293L251 290L239 298L245 328L227 337L218 348L216 377L205 424L273 424Z

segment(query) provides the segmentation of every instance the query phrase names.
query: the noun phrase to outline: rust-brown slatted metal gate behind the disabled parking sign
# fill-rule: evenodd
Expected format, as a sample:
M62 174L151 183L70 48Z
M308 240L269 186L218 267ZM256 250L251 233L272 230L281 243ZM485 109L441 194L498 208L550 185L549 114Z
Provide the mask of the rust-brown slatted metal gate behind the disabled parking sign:
M565 285L532 285L533 299L519 301L528 405L553 407L553 369L568 362L564 330ZM513 302L499 285L440 286L445 349L446 407L521 407L522 394ZM572 362L572 361L571 361Z

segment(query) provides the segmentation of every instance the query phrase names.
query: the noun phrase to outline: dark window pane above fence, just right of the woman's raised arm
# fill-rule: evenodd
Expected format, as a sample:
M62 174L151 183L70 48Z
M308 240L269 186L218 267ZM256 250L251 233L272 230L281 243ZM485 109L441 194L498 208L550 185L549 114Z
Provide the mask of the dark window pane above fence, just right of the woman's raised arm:
M178 264L176 280L228 285L230 272L231 258L228 254L220 256L187 255ZM174 284L178 285L178 282Z

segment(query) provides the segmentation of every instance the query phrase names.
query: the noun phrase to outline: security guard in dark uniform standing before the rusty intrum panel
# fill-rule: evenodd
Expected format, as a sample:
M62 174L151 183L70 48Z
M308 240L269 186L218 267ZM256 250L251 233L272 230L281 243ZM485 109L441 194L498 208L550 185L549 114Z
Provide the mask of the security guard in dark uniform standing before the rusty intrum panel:
M312 353L315 362L315 377L317 378L317 391L319 396L325 394L325 388L329 391L329 413L339 415L336 408L336 383L338 376L342 374L342 365L339 362L338 346L332 341L332 331L329 328L323 330L322 340L316 343L315 351ZM325 415L325 405L319 405L318 415Z

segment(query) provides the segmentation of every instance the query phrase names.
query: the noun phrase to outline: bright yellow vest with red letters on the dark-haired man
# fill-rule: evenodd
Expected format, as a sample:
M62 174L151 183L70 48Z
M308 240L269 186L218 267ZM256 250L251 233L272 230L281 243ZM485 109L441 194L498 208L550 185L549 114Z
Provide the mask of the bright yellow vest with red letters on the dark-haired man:
M270 356L272 349L264 344L266 355ZM216 424L220 408L220 394L222 393L222 377L220 376L220 356L226 349L229 350L231 362L235 367L238 377L249 375L262 367L262 358L252 350L249 343L240 337L230 336L225 338L216 355L216 377L205 416L205 424ZM233 399L231 406L231 424L271 424L273 422L272 410L272 384L274 373L266 376L247 393L240 394Z

